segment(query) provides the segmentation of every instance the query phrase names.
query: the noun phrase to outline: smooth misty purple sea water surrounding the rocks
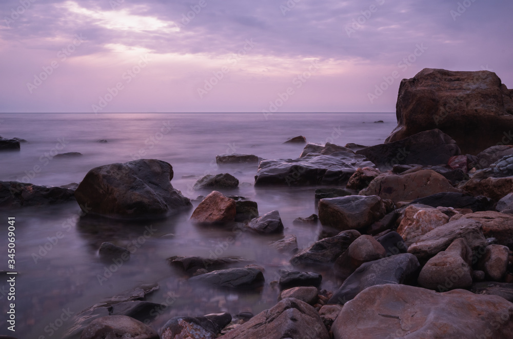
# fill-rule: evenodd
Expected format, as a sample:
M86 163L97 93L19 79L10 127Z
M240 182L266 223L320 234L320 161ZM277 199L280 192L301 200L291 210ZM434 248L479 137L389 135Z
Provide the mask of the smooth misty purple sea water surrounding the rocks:
M384 123L373 123L380 120ZM19 152L0 154L0 180L61 186L80 182L96 166L156 158L173 166L172 185L192 199L208 194L192 190L199 177L229 172L241 185L226 193L256 201L260 214L278 209L285 234L295 234L301 248L317 240L319 229L295 226L292 221L316 212L315 188L255 190L255 167L218 169L215 155L250 153L268 159L297 158L303 146L282 144L288 138L304 135L313 143L370 146L382 143L395 126L393 113L280 113L267 117L259 113L0 114L0 135L28 141ZM107 143L98 143L100 139ZM54 158L56 152L83 155ZM78 213L76 203L0 211L3 233L7 232L7 218L16 218L15 258L19 274L15 334L20 338L61 337L72 325L71 321L56 322L63 309L76 314L142 283L160 284L160 290L149 297L153 302L162 303L168 293L173 293L172 304L153 323L155 329L175 315L198 316L219 311L256 314L275 303L278 292L269 282L277 279L279 269L289 268L289 256L267 246L274 238L243 234L228 244L231 230L190 224L192 210L166 220L138 224L91 222L79 218ZM143 239L146 226L155 230L153 234L138 243L140 246L128 262L111 275L106 274L106 264L97 256L98 246L105 241L129 246ZM56 237L57 232L62 232L58 233L60 238ZM0 235L0 244L7 248L7 234ZM214 252L220 256L241 256L263 266L263 291L238 293L192 288L166 262L173 255L208 257ZM7 269L7 259L5 251L0 270ZM327 272L323 287L334 289L336 284ZM7 285L4 282L2 286L0 334L12 335L5 323Z

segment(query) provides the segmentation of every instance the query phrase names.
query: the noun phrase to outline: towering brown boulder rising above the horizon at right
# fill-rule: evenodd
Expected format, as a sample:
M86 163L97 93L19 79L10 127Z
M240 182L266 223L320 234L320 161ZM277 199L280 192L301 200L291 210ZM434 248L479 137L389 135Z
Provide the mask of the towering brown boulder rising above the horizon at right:
M512 92L493 72L425 68L401 82L398 126L386 142L438 128L453 138L463 153L477 154L498 143L510 144Z

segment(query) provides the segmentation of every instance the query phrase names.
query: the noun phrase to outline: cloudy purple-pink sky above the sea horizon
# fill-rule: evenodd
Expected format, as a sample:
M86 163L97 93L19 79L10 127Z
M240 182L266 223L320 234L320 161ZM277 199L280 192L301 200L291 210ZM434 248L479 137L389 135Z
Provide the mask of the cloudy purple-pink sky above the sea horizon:
M511 0L2 0L0 112L393 112L426 67L513 88L512 14Z

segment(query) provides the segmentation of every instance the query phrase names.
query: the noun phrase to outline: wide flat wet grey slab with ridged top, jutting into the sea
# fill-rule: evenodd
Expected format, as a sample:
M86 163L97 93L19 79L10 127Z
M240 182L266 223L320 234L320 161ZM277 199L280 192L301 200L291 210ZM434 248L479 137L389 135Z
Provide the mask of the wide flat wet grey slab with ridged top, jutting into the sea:
M299 159L264 160L255 174L255 186L342 185L359 167L374 167L374 164L352 151Z

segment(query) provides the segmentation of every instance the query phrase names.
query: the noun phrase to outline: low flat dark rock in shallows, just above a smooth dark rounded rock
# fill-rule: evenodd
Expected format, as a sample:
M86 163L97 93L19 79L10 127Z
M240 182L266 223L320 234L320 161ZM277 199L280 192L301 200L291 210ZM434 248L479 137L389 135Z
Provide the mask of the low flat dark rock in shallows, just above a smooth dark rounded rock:
M189 275L193 275L199 269L207 271L215 271L225 269L233 266L244 266L252 264L252 260L247 260L239 257L221 257L218 258L215 253L212 253L210 258L201 256L181 256L176 255L167 259L169 265L175 267Z

